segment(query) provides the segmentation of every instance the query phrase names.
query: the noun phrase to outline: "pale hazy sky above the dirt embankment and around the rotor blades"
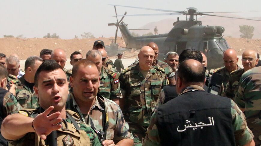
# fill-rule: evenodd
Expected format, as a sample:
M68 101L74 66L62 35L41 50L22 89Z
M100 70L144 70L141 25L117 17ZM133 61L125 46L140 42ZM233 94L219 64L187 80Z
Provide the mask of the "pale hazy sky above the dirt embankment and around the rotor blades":
M200 12L261 11L261 0L0 0L0 37L4 34L23 34L26 38L42 38L47 33L57 33L61 39L72 39L74 35L80 38L83 32L91 32L96 37L114 36L116 27L108 27L107 24L116 22L116 18L111 17L115 15L115 11L113 6L108 4L177 11L187 7L196 7ZM118 15L123 15L125 11L127 14L164 13L116 8ZM261 12L236 15L261 17ZM129 28L139 28L152 21L176 17L178 16L135 16L125 17L123 21ZM181 20L184 18L179 17ZM120 32L118 33L121 36Z

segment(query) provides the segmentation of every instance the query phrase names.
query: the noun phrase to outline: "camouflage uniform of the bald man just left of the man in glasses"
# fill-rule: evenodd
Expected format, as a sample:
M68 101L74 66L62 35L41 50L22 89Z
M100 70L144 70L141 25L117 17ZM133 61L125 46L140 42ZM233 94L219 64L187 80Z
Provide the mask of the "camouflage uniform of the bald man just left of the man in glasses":
M241 69L240 66L237 65L237 70ZM220 95L221 96L226 96L226 89L227 89L227 83L229 80L229 72L226 70L225 67L221 67L221 68L217 68L213 71L213 73L218 73L222 76L224 76L224 80L222 82L222 87L221 87L221 91L220 91ZM211 74L211 73L210 73Z

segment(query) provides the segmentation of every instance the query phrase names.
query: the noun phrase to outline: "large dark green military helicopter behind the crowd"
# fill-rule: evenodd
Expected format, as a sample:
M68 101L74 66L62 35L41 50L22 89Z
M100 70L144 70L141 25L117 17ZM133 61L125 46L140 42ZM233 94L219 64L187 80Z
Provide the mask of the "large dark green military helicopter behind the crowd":
M110 4L111 5L111 4ZM223 38L223 33L225 28L222 26L203 26L201 21L197 21L197 16L217 16L235 19L245 19L238 17L229 16L218 16L209 13L240 13L240 12L199 12L195 7L189 7L184 11L174 11L174 10L161 10L152 9L144 7L132 7L132 6L122 6L113 5L116 15L116 23L108 23L108 26L116 26L115 42L117 39L118 29L122 33L122 37L125 41L126 48L140 49L146 46L149 42L155 42L159 47L159 57L158 59L164 60L165 54L169 51L174 51L180 54L185 49L195 49L203 52L208 59L208 70L215 69L223 66L223 53L229 48L228 43ZM155 10L170 13L160 13L160 14L134 14L134 15L117 15L116 6L120 7L130 7L145 10ZM256 12L256 11L241 11L241 12ZM186 20L179 20L173 23L173 28L169 33L150 35L150 36L133 36L130 30L140 30L140 29L129 29L128 24L124 23L122 20L125 16L162 16L162 15L186 15ZM120 21L118 21L118 16L122 16ZM245 19L253 21L261 21L255 19Z

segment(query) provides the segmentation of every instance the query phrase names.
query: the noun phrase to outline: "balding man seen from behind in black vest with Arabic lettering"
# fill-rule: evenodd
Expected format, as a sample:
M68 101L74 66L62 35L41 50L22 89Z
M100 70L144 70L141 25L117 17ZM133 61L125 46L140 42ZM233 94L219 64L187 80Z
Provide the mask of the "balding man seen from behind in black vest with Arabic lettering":
M166 145L167 143L170 143L168 141L163 142L163 139L161 139L161 138L164 136L164 134L169 135L170 137L175 135L175 137L173 137L173 139L175 139L175 140L173 140L173 141L170 140L172 142L171 145L184 145L184 143L186 143L186 144L190 143L191 145L198 146L196 144L193 144L193 140L199 141L199 143L204 143L205 137L200 136L200 134L203 135L203 134L205 134L204 132L209 132L209 131L216 133L215 132L216 130L219 131L221 134L214 135L213 133L209 133L210 135L212 134L211 136L213 137L213 139L211 139L210 141L206 140L206 143L209 144L212 142L213 145L222 145L222 141L220 141L220 139L214 138L215 136L219 136L219 138L220 138L223 135L226 135L226 136L234 135L233 138L235 139L236 145L243 146L243 145L250 144L251 146L254 146L253 134L252 134L251 130L249 130L249 128L247 127L245 116L241 112L241 110L238 108L238 106L231 99L227 99L227 98L220 97L220 96L215 96L210 93L205 93L205 91L203 89L204 69L202 66L199 67L199 65L201 65L200 62L197 62L192 59L186 60L185 62L182 62L180 64L180 67L178 70L178 76L177 76L177 85L176 85L177 93L179 93L179 96L172 99L171 101L167 102L166 104L161 105L152 114L150 125L147 130L147 134L144 139L144 142L143 142L144 146L160 146L160 145L163 145L163 143L164 143L164 145ZM190 68L190 70L196 70L194 68L197 68L198 70L195 71L195 73L191 73L192 71L189 71L187 68ZM190 74L187 76L183 76L182 72L188 72ZM190 76L193 76L193 75L195 75L194 80L188 80L188 78L190 78ZM200 82L199 82L199 79L200 79ZM190 96L192 96L192 94L194 94L194 95L196 94L195 95L196 99L194 99L194 101L193 101L193 98L195 98L195 97L190 97ZM205 95L207 97L202 97L202 95ZM224 103L224 104L226 104L228 106L231 105L231 107L230 107L231 109L228 108L226 110L226 112L224 112L224 109L214 107L212 110L210 110L211 107L208 107L208 101L205 101L206 98L210 98L211 100L215 99L215 100L217 100L217 102L219 102L219 100L222 102L224 102L224 101L228 102L228 103ZM176 103L180 103L181 106L176 107L176 105L175 105L175 107L172 107L172 109L170 109L171 105L173 105L174 101ZM195 105L200 105L200 107L198 107L198 109L193 110ZM184 106L184 110L180 109L182 106ZM191 112L187 112L188 109L190 109L190 106L192 107L192 110L190 110ZM217 105L217 107L218 106L219 105ZM169 110L170 112L167 112L167 110ZM202 110L206 110L206 111L204 112ZM208 110L210 110L210 111L208 111ZM195 121L203 122L204 118L207 116L209 116L209 117L211 117L213 115L216 116L215 114L209 115L209 113L211 114L211 111L213 111L213 110L216 110L222 117L222 118L214 117L214 119L216 121L215 121L215 123L213 123L213 127L200 127L199 126L200 128L199 127L198 127L198 129L195 128L195 129L193 129L194 131L192 130L192 128L188 129L190 127L186 127L187 128L187 130L185 129L186 131L183 130L183 128L179 128L178 126L177 126L178 128L176 127L176 129L172 129L176 125L183 127L183 125L180 125L180 123L183 123L183 122L180 122L180 121L183 121L183 120L186 121L186 119L193 120L194 122ZM227 113L231 113L231 115L225 116ZM207 114L207 115L205 116L205 114ZM176 116L171 116L171 115L176 115ZM163 119L163 116L166 118ZM177 116L179 116L179 119L176 119ZM189 116L189 117L187 117L187 116ZM228 118L225 118L225 117L228 117ZM161 118L161 122L159 122L159 118ZM229 118L231 118L231 119L229 119ZM231 121L231 122L229 122L228 125L218 125L219 123L217 123L217 122L223 121L223 120ZM166 125L166 127L169 127L170 129L172 129L172 133L170 133L170 131L165 131L167 133L163 133L162 130L158 129L158 128L161 128L161 126L163 126L166 121L168 121L168 124ZM192 123L193 123L193 121L192 121ZM194 123L193 123L193 125L194 125ZM211 130L205 130L206 128L211 128ZM182 131L177 131L178 129L182 129ZM230 133L228 131L232 131L234 133ZM198 133L199 136L195 136L196 133ZM184 140L186 142L184 142ZM191 140L191 141L187 141L187 140ZM175 142L175 143L173 143L173 142ZM232 144L233 142L229 141L228 143Z

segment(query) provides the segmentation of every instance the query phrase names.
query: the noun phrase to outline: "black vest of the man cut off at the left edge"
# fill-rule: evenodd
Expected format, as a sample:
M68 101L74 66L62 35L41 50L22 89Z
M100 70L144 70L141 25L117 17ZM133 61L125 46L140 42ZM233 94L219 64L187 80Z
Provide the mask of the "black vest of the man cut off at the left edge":
M4 120L4 113L3 113L3 101L4 101L4 96L5 94L7 93L8 91L1 88L0 87L0 127L2 125L2 122ZM0 132L0 145L3 145L3 146L7 146L7 140L4 139L4 137L2 136L1 132Z

